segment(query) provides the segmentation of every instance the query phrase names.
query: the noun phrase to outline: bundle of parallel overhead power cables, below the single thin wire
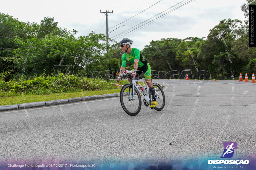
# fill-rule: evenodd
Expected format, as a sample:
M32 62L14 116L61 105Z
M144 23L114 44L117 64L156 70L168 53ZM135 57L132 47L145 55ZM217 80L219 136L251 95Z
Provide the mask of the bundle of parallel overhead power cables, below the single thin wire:
M130 28L130 29L128 29L128 30L126 30L126 31L124 31L124 32L122 32L122 33L120 33L120 34L118 34L118 35L121 35L121 36L124 36L124 35L129 35L128 33L130 33L130 32L135 32L135 31L137 31L137 30L139 30L138 28L140 28L140 27L142 27L142 28L144 28L144 27L146 27L147 25L149 25L149 24L151 24L151 23L153 23L154 21L156 21L156 20L158 20L158 19L160 19L160 18L162 18L162 17L164 17L164 16L166 16L166 15L168 15L170 12L173 12L174 10L176 10L176 9L178 9L178 8L180 8L180 7L182 7L182 6L184 6L184 5L186 5L186 4L188 4L188 3L191 3L191 2L193 2L193 1L195 1L195 0L190 0L189 2L187 2L188 0L186 0L185 2L180 2L181 3L181 5L179 5L178 7L176 7L178 4L180 4L180 3L178 3L178 4L176 4L176 5L174 5L174 6L172 6L172 7L170 7L170 8L168 8L168 9L166 9L166 10L164 10L163 12L165 12L165 11L167 11L167 10L169 10L169 9L171 9L171 8L173 8L173 9L171 9L171 10L169 10L168 12L165 12L164 14L162 14L163 12L161 12L161 13L159 13L159 14L157 14L157 15L155 15L154 17L151 17L150 19L152 19L152 18L154 18L154 19L152 19L152 20L150 20L150 19L148 19L148 20L146 20L146 21L144 21L144 22L142 22L142 23L140 23L140 24L137 24L137 25L135 25L134 27L132 27L132 28ZM162 15L160 15L160 14L162 14ZM160 16L159 16L160 15ZM150 21L149 21L150 20ZM145 23L146 22L146 23ZM144 24L143 24L144 23ZM147 24L147 25L146 25ZM145 26L144 26L145 25ZM143 27L144 26L144 27ZM142 29L142 28L140 28L140 29ZM135 31L134 31L135 30ZM132 33L133 33L132 32ZM131 33L130 33L131 34ZM113 37L116 37L116 36L118 36L118 35L115 35L115 36L113 36ZM119 37L121 37L121 36L119 36ZM113 38L113 37L111 37L111 38ZM118 38L118 37L117 37Z

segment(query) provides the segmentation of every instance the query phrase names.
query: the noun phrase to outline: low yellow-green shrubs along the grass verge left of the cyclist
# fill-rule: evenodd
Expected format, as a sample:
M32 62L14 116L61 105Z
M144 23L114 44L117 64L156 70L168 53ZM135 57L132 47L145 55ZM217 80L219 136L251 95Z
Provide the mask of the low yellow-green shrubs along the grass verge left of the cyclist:
M33 76L31 78L11 80L5 82L0 81L0 97L15 96L21 94L54 94L54 93L73 93L82 92L85 90L109 90L120 87L115 87L116 80L107 82L104 79L92 79L87 77L77 77L69 74L58 74L54 76ZM121 81L118 84L126 84L126 81Z

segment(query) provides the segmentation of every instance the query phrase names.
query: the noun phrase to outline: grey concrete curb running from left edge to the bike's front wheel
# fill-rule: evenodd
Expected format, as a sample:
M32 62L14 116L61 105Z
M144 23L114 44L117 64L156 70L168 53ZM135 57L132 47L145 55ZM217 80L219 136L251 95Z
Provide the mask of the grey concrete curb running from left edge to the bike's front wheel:
M120 93L114 93L114 94L105 94L105 95L76 97L76 98L70 98L70 99L13 104L13 105L0 106L0 112L9 111L9 110L18 110L18 109L24 109L24 108L52 106L52 105L56 105L56 104L73 103L73 102L78 102L78 101L88 101L88 100L104 99L104 98L110 98L110 97L119 97L119 96L120 96Z

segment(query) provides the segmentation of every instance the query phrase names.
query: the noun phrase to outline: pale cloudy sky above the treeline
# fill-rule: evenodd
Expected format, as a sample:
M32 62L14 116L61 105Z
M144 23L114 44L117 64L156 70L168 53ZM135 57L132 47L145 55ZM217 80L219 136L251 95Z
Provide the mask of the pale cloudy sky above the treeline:
M132 47L140 50L145 45L149 45L152 40L157 41L161 38L207 37L210 29L223 19L245 20L241 10L241 5L246 3L244 0L195 0L142 29L134 30L135 32L131 32L129 35L116 36L182 2L181 0L159 1L9 0L1 2L0 12L9 14L23 22L30 21L38 24L44 17L54 17L58 26L68 30L78 30L76 35L78 37L88 35L91 31L105 34L106 15L100 13L100 10L104 12L113 10L113 14L108 14L109 37L116 42L120 42L122 38L130 38L133 41ZM150 8L147 9L148 7ZM138 15L135 16L136 14ZM131 17L133 18L129 19ZM121 23L123 21L125 22ZM119 27L120 25L125 26Z

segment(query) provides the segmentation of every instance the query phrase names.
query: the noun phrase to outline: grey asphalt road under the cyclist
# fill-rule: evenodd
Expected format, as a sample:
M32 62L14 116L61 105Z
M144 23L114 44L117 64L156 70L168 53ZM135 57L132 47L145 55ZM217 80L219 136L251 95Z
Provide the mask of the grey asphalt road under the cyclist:
M256 158L256 83L159 83L165 86L165 108L143 105L136 116L123 111L118 97L0 112L0 160L125 164L219 159L222 142L238 143L233 159Z

